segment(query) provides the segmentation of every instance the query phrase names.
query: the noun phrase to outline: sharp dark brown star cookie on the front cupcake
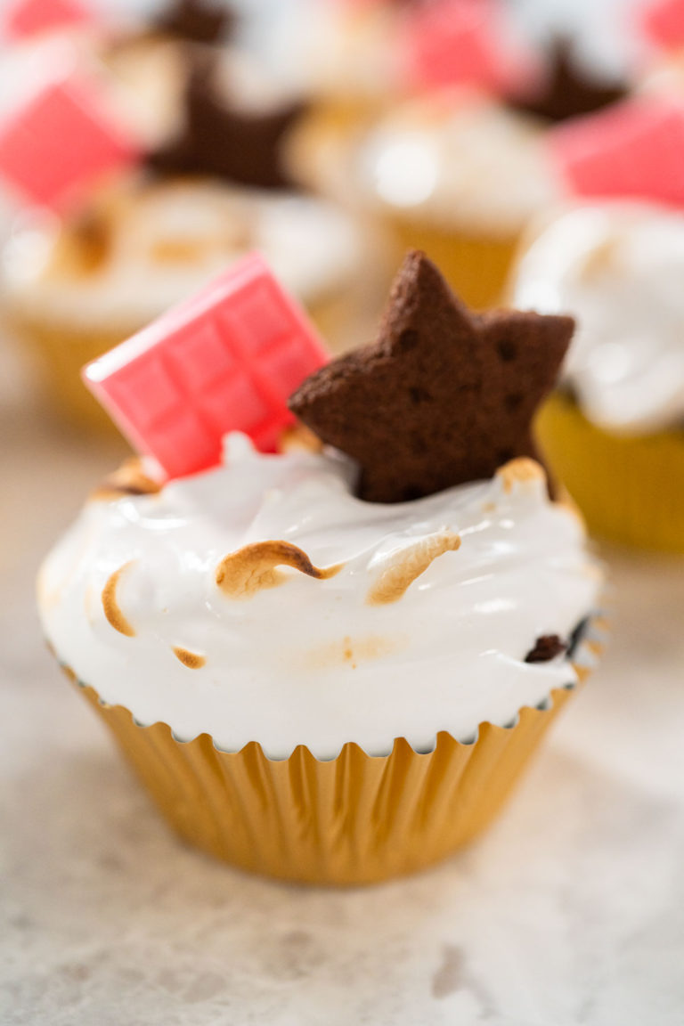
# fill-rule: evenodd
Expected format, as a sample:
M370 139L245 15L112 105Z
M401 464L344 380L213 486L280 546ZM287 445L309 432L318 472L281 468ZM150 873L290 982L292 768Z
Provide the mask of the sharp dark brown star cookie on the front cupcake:
M377 342L316 371L289 406L357 461L361 499L417 499L536 459L532 418L573 328L571 317L473 314L425 253L409 252Z

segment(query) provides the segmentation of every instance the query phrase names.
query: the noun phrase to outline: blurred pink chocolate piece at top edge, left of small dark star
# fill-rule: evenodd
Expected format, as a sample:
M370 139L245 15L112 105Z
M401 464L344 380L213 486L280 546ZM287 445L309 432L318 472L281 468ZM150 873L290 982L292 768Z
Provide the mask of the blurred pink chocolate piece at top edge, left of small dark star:
M490 0L434 0L407 9L402 50L408 81L506 89L514 72L498 15Z

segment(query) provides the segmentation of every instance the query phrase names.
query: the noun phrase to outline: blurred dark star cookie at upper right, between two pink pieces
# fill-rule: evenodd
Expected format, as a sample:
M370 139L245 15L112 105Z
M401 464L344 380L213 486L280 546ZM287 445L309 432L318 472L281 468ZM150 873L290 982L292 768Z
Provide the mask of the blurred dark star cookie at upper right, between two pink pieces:
M509 103L516 110L559 122L600 111L622 100L628 92L621 82L601 79L582 67L572 40L560 36L550 49L540 86L529 95L514 96Z

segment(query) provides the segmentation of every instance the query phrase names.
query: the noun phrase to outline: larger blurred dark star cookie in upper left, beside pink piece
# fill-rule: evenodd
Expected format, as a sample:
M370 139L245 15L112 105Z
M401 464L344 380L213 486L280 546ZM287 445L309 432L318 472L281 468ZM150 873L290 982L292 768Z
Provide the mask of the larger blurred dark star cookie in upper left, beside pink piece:
M185 128L150 154L148 163L161 174L208 174L260 189L288 188L292 183L281 144L303 110L299 103L263 114L231 110L216 94L211 63L196 64L186 89Z

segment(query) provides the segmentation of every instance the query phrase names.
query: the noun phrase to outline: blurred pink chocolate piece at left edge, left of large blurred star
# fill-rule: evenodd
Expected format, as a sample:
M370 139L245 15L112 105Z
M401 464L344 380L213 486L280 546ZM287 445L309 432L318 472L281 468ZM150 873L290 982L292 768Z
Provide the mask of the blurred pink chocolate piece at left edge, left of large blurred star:
M136 159L132 140L100 109L97 88L76 75L52 81L0 125L0 175L29 202L62 209Z

